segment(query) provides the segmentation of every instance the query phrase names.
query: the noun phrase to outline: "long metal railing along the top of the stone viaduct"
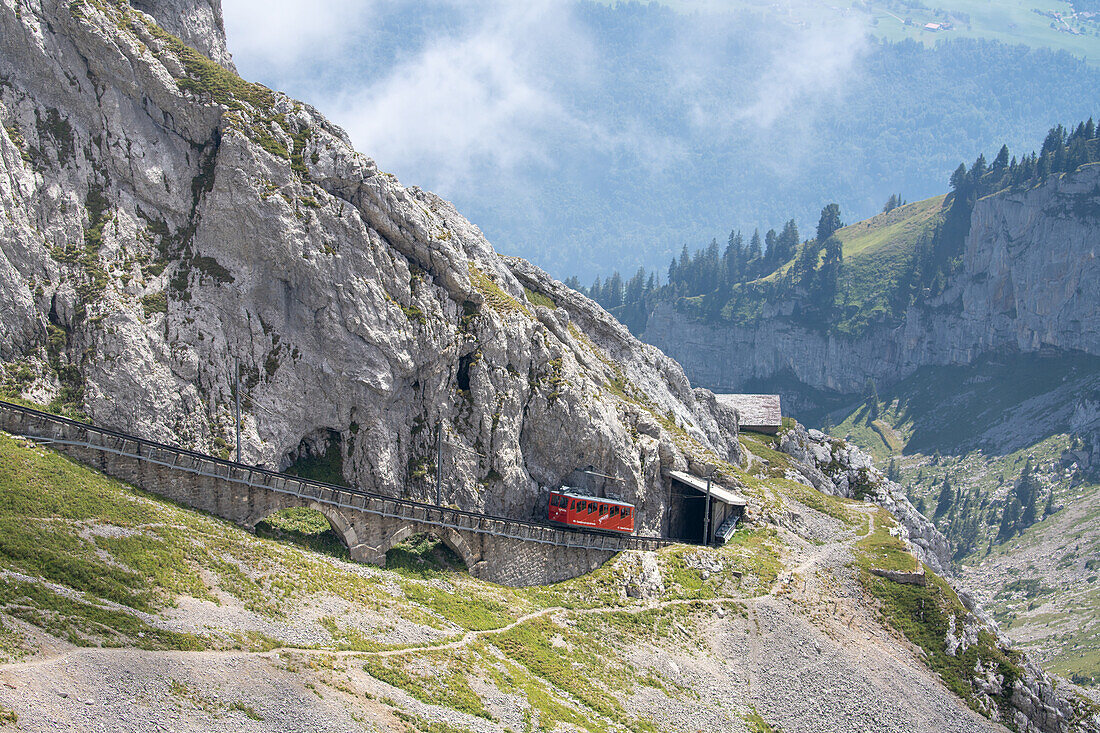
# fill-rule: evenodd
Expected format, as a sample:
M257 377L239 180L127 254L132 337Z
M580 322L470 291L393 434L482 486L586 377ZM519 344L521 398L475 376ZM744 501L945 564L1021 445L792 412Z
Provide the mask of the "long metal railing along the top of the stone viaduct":
M674 544L674 540L664 537L605 535L584 529L566 529L527 519L449 508L408 499L385 496L362 489L301 479L139 438L118 430L96 427L88 423L52 415L2 400L0 400L0 414L18 416L15 423L19 424L20 428L12 431L37 442L98 450L193 475L219 479L387 518L576 549L651 550ZM32 420L41 423L43 428L52 427L54 429L34 430L31 425ZM2 420L2 423L7 424L8 420ZM75 429L76 436L65 434L66 429ZM51 431L54 435L50 435Z

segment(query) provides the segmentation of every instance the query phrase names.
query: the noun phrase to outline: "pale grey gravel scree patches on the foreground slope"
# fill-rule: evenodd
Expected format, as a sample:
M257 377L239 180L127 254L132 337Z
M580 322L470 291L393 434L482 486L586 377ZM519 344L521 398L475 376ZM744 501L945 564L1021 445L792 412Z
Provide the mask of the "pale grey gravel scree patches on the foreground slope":
M694 616L695 630L624 650L668 690L638 686L620 700L625 708L670 731L741 733L756 710L785 733L1003 732L966 708L908 643L873 619L847 567L853 535L807 507L798 510L792 528L809 530L816 541L781 529L789 570L771 589L744 599L745 613L715 603L713 613ZM316 628L311 622L320 615L353 611L343 604L309 599L290 622L270 628L296 638L287 626L308 621ZM565 619L576 612L547 613ZM229 599L222 606L186 601L168 615L175 627L266 631L272 624ZM363 628L385 621L366 610L351 615ZM312 632L299 633L304 642L316 641ZM417 627L402 635L428 642L438 633ZM493 633L466 634L453 644L479 636L492 643ZM400 653L387 656L393 654ZM367 675L354 654L154 653L74 648L55 639L36 657L0 666L0 705L18 713L19 729L50 733L406 730L397 711L479 733L526 727L519 698L477 674L470 679L495 720L416 700Z

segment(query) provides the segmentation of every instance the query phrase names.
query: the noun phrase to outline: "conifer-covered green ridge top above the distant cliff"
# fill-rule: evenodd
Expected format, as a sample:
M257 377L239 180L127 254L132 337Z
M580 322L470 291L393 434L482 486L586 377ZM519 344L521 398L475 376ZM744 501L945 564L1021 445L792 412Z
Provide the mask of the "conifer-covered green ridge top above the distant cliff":
M694 253L684 247L663 278L639 269L625 283L615 272L590 287L575 277L569 284L639 333L657 303L666 302L708 324L746 325L779 315L858 335L871 324L897 322L914 303L943 293L959 267L979 198L1026 190L1098 161L1100 139L1091 118L1068 130L1059 124L1038 152L1016 157L1005 144L992 162L980 154L969 168L960 163L946 197L905 204L891 194L880 215L848 227L839 206L828 204L813 237L802 242L791 219L763 237L758 229L751 236L733 231L724 249L716 240Z

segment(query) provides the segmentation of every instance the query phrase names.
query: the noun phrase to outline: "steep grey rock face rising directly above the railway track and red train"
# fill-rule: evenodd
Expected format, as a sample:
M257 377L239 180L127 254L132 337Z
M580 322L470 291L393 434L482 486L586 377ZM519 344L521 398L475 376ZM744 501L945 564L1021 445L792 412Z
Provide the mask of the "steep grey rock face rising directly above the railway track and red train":
M662 468L738 460L675 362L238 78L216 0L0 0L0 37L8 394L227 456L239 394L246 462L416 499L440 428L444 503L591 470L646 533Z

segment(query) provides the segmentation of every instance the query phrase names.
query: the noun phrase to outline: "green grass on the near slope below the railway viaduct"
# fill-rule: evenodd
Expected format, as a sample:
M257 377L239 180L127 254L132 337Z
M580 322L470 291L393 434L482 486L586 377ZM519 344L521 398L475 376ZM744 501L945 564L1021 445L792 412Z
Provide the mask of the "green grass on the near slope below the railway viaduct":
M913 567L913 557L888 533L888 515L879 512L876 532L869 534L857 504L782 478L789 462L773 437L748 434L746 444L766 461L754 473L758 489L778 502L798 500L866 536L857 553L859 567ZM494 718L490 700L496 692L485 692L491 688L526 703L529 730L566 724L594 733L657 730L624 702L642 688L673 700L697 697L649 663L626 658L623 649L636 642L682 642L684 630L711 617L715 604L744 614L745 603L767 592L789 562L784 541L769 526L741 529L721 549L668 548L658 555L666 584L660 600L679 603L659 608L623 595L625 580L637 572L631 556L582 578L531 589L474 580L457 571L458 559L431 541L396 548L391 569L381 570L295 544L326 549L316 540L327 532L324 523L308 513L282 512L268 519L268 532L282 540L256 537L3 434L0 523L0 649L9 660L33 654L43 633L77 646L371 653L391 648L387 628L406 623L435 635L422 649L361 658L358 664L370 676L415 700L472 718ZM933 669L957 687L956 661L935 654L946 614L963 613L949 589L899 591L866 568L861 577L883 603L883 621L926 647ZM332 601L343 601L344 611L331 613ZM195 603L201 605L200 619L194 628L178 631L178 611ZM233 612L222 616L223 608ZM242 608L266 631L242 624ZM318 608L328 615L308 613ZM535 615L505 630L525 614ZM166 631L168 616L177 631ZM925 617L938 625L930 626ZM381 623L372 626L371 619ZM438 648L471 630L503 631L460 648ZM304 631L316 641L300 641ZM1000 658L992 649L979 653ZM342 689L326 681L334 677L331 660L286 654L287 668L320 670L322 683ZM402 703L389 698L381 703L409 730L424 729L425 722L403 712ZM768 730L750 708L743 715L756 730Z

